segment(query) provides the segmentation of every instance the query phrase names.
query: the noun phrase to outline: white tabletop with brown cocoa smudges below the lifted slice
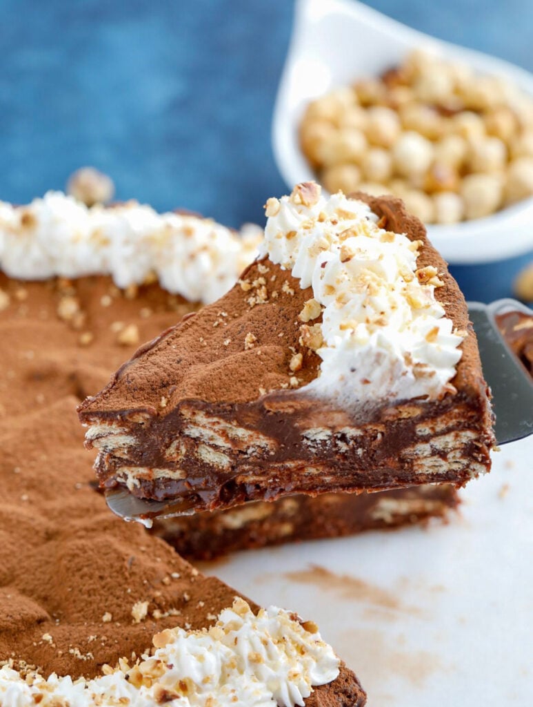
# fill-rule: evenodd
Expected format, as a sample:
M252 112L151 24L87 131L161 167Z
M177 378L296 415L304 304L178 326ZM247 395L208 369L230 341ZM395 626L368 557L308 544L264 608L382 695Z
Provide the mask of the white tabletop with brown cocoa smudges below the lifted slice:
M242 552L202 569L316 621L369 707L530 707L532 459L533 436L503 447L448 525Z

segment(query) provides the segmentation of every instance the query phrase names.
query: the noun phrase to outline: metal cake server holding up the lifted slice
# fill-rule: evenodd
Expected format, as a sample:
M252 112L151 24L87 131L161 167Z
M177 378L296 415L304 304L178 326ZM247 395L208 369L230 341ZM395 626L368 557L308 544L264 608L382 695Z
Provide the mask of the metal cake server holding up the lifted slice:
M498 300L489 305L469 302L468 311L477 335L481 365L492 390L496 414L494 431L498 445L507 444L533 433L533 380L513 354L496 325L496 316L509 311L533 315L516 300ZM105 492L107 506L124 520L136 520L146 527L154 518L193 515L193 501L150 501L136 498L127 489Z

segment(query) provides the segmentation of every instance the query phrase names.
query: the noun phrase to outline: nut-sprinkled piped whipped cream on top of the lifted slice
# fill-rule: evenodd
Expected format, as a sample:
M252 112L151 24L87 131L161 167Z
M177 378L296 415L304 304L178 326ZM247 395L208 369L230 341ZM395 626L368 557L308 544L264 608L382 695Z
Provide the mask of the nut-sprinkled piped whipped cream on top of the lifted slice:
M421 242L381 228L367 204L339 192L325 198L313 182L269 199L262 255L290 270L313 300L301 318L322 358L306 390L354 400L441 397L461 358L435 298L433 267L417 268Z

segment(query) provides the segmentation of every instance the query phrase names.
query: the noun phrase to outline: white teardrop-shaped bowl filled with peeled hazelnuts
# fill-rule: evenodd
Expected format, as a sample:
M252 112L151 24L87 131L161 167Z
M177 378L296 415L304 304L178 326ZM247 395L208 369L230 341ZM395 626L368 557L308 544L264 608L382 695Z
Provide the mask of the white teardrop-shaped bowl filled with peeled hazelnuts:
M288 185L403 199L467 298L509 296L533 260L533 76L501 59L299 0L273 151Z

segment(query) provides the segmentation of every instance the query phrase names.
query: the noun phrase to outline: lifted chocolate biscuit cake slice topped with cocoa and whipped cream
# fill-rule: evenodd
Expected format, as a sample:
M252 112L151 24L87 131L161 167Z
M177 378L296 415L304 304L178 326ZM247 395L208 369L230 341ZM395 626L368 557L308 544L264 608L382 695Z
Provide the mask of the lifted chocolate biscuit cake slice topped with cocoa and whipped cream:
M269 199L262 255L80 405L104 488L197 510L490 468L465 299L401 201Z

